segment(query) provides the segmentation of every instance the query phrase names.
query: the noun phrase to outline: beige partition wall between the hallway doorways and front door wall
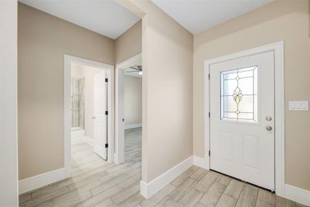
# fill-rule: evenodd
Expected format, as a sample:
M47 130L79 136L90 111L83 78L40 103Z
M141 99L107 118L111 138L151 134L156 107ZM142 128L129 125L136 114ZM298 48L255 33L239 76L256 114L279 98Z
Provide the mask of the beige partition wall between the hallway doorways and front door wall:
M151 1L118 1L143 17L142 179L193 155L193 35ZM140 16L141 17L141 16Z

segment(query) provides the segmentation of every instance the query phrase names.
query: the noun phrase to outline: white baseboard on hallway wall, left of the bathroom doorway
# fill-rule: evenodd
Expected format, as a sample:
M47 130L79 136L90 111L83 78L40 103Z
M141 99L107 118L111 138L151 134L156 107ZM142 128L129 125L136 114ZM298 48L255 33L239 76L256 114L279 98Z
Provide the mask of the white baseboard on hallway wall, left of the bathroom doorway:
M60 168L34 177L22 179L19 181L19 194L41 188L65 178L67 178L65 168Z

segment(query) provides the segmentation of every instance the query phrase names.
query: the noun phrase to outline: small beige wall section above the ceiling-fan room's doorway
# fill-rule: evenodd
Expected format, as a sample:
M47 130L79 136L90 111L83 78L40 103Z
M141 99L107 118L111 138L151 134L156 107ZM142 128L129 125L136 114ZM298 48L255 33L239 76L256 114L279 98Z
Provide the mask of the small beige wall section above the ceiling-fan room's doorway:
M142 21L121 34L115 40L115 64L121 63L142 51Z

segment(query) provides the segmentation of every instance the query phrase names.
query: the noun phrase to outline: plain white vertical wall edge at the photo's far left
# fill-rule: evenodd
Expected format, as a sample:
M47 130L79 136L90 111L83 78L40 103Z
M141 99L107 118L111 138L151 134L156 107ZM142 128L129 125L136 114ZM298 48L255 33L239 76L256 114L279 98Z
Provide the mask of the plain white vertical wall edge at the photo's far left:
M17 0L0 1L0 206L18 206Z

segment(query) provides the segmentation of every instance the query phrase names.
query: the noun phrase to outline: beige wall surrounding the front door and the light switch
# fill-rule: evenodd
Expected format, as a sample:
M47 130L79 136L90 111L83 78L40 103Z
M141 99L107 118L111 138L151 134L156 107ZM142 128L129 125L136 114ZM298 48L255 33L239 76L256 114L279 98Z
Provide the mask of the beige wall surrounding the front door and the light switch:
M310 190L310 114L289 100L310 99L308 2L274 1L194 36L194 155L204 157L203 61L276 41L285 43L285 182Z

